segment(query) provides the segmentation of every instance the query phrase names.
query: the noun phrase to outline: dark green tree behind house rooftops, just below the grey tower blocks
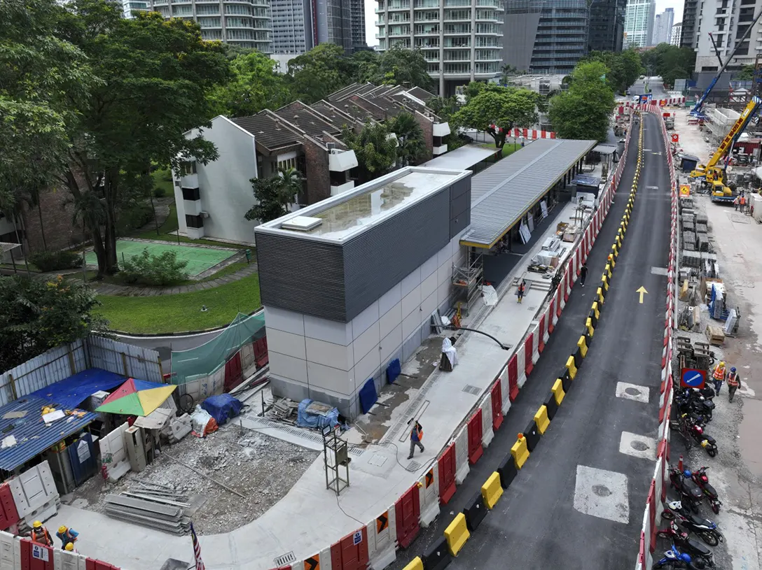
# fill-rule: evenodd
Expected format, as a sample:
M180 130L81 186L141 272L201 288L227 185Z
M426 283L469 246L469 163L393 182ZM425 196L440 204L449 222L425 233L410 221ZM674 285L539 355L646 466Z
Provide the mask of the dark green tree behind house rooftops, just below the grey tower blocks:
M335 43L321 43L288 64L291 91L308 105L350 84L353 72L351 60Z

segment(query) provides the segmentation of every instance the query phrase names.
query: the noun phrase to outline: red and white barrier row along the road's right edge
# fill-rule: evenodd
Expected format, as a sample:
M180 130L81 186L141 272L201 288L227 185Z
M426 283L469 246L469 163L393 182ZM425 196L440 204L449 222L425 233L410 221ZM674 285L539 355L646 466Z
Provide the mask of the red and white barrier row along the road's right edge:
M670 172L671 183L671 220L670 220L670 250L669 266L667 269L667 303L664 311L664 348L661 352L661 387L659 395L659 428L658 428L658 451L654 477L646 498L645 511L643 513L643 526L640 533L640 549L636 562L636 570L646 570L652 566L652 554L655 549L656 531L661 523L662 502L669 486L667 479L669 468L669 440L670 440L670 411L674 387L672 383L672 350L673 350L673 326L675 314L674 287L677 272L677 182L674 174L674 164L670 152L670 139L667 128L664 125L664 117L658 105L649 105L646 110L654 113L661 122L661 135L664 139L664 151L667 156L667 164Z

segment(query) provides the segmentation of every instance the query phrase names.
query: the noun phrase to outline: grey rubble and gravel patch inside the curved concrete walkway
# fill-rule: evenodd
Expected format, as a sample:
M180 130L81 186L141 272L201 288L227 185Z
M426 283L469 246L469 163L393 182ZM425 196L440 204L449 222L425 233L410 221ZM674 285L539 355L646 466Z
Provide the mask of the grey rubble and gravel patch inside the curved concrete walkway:
M127 473L114 485L94 476L77 489L71 504L105 512L105 498L135 489L137 482L170 486L187 495L199 534L226 533L254 521L277 503L319 454L287 441L226 425L207 438L187 435L141 473ZM241 498L169 457L194 467L241 493Z

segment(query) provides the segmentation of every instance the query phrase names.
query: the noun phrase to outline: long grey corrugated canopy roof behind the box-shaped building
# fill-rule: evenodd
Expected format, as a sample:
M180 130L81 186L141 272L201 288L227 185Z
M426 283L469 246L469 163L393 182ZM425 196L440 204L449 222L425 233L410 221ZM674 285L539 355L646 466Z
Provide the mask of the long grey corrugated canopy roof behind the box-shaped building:
M471 179L471 227L463 245L492 247L596 145L539 139Z

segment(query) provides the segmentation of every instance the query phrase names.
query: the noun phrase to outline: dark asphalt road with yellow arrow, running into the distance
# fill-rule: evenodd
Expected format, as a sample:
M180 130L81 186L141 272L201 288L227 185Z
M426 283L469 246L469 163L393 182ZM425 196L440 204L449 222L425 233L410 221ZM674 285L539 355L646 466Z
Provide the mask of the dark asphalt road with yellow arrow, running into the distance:
M620 452L620 439L623 432L656 436L670 208L666 161L652 154L664 148L657 119L645 116L643 121L644 148L651 151L644 153L635 210L588 358L546 435L450 568L589 570L635 565L655 461ZM633 142L638 134L636 127ZM485 456L472 466L450 504L443 505L437 521L407 551L398 553L399 562L392 568L403 568L420 556L479 492L575 350L594 300L594 276L603 272L626 207L636 148L630 147L623 183L588 259L588 286L575 285L545 352ZM642 304L636 293L641 285L648 291ZM647 392L643 387L649 388L647 400L617 397L619 382L640 387L642 396ZM655 447L655 441L646 444ZM637 453L629 441L623 445ZM653 456L655 449L645 453Z

